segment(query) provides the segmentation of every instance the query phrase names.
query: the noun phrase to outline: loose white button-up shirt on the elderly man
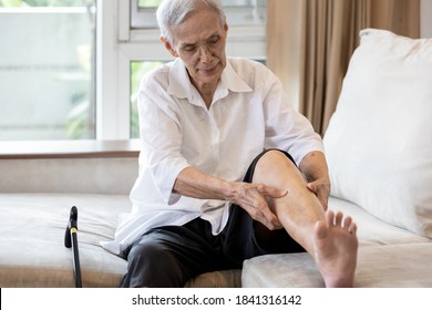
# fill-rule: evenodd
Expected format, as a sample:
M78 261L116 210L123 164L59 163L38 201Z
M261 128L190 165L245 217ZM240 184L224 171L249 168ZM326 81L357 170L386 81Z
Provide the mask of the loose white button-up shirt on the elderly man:
M238 182L266 148L287 151L297 164L311 151L323 152L320 136L287 101L279 80L246 59L228 59L209 108L181 59L150 72L141 82L138 114L142 152L133 208L122 216L115 240L102 244L114 254L151 228L196 217L220 232L229 203L173 193L188 166Z

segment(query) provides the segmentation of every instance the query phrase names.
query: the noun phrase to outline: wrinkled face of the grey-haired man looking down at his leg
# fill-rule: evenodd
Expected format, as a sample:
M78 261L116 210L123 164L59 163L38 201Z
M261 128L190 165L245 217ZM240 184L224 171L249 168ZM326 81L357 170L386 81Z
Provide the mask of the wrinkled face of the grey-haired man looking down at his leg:
M216 89L226 66L225 44L228 32L226 22L210 10L199 10L172 30L174 46L162 38L174 56L186 65L192 83L199 90Z

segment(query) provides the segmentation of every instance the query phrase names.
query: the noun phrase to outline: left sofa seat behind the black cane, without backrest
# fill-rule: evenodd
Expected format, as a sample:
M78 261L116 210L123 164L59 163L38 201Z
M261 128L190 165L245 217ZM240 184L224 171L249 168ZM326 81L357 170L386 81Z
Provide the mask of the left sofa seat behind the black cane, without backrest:
M127 195L0 194L0 287L74 287L72 250L64 247L70 209L78 208L83 287L116 287L126 261L100 246L111 240ZM240 270L210 272L187 287L239 287Z

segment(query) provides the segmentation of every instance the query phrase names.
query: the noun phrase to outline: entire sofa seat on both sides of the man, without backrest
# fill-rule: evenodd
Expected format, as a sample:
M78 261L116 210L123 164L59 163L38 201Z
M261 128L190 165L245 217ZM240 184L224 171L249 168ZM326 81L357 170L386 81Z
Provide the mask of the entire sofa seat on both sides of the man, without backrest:
M83 287L116 287L126 261L104 250L127 195L0 194L0 287L73 287L72 251L64 231L76 206ZM357 287L432 287L430 239L388 225L349 202L330 197L330 208L356 218L360 241ZM260 256L243 270L200 275L186 287L323 287L307 254Z

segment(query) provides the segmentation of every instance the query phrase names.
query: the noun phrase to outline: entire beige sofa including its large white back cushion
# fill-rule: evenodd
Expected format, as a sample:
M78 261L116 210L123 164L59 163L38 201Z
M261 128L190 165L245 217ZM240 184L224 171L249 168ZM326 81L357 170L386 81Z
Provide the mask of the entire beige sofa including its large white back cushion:
M356 287L432 287L432 39L376 29L360 37L325 135L329 208L358 225ZM78 144L64 148L88 151L0 151L0 287L74 286L64 247L72 206L83 287L116 287L125 272L127 262L100 241L114 237L119 215L131 208L140 146ZM323 281L300 252L255 257L241 270L200 275L186 286Z

